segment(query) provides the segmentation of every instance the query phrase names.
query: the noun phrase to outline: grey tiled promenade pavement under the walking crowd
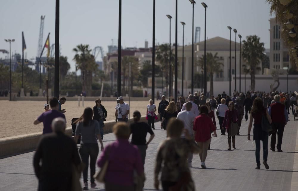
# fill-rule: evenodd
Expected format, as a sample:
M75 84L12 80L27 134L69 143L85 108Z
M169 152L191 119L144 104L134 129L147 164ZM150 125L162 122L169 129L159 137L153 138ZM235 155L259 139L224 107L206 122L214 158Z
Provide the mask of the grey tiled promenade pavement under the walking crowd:
M261 165L260 170L254 169L256 166L255 144L253 141L247 140L248 122L243 120L240 136L236 136L237 150L226 150L227 136L221 136L218 129L219 136L212 138L211 150L208 151L207 169L201 169L199 156L194 155L191 172L196 190L298 190L297 184L291 185L291 183L297 182L295 179L298 173L298 148L295 149L295 146L298 122L294 121L293 117L290 117L290 119L291 121L285 127L283 136L282 149L284 152L272 152L269 150L269 170L266 170L263 165ZM145 163L147 181L144 190L154 190L153 168L156 149L159 142L165 139L165 131L160 130L159 123L155 124L156 130L154 132L156 136L147 150ZM115 136L112 133L104 135L103 142L105 145L114 140ZM293 166L295 150L296 162L295 166ZM29 152L0 159L1 191L36 190L38 181L32 167L33 154L34 152ZM262 159L262 149L260 155ZM98 184L97 189L90 190L104 190L104 186L103 184Z

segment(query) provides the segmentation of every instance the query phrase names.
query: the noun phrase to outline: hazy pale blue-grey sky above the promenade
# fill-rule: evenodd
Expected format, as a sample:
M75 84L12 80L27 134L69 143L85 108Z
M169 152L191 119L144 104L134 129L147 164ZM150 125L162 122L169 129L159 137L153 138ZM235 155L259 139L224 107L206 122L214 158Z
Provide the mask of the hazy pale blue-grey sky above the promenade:
M220 36L229 39L227 26L238 30L243 39L257 35L265 48L270 46L269 5L266 0L204 0L207 4L207 39ZM72 51L79 44L89 44L93 49L102 46L104 54L108 45L118 41L119 0L60 0L60 49L68 57L70 71L75 71ZM156 0L155 10L156 44L169 42L169 19L171 21L171 42L175 42L175 0ZM38 48L40 17L45 15L43 44L50 33L50 44L55 42L55 1L54 0L0 0L0 49L9 51L4 39L15 39L12 52L21 54L24 31L27 59L35 58ZM178 0L178 44L192 40L192 4L189 0ZM148 40L152 47L153 0L122 0L122 47L144 47ZM201 41L204 40L204 7L196 1L194 8L194 29L201 27ZM237 36L238 36L237 34ZM235 33L232 32L232 40ZM239 38L237 37L239 42ZM0 58L6 54L0 53ZM100 59L100 55L97 57Z

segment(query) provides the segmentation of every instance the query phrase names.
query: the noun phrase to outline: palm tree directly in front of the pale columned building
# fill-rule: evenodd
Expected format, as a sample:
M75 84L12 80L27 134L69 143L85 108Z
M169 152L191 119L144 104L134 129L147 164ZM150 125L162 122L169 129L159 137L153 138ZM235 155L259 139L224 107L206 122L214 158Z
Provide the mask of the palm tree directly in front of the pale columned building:
M210 95L213 95L213 75L214 73L221 72L221 66L224 66L224 64L218 58L217 54L218 53L215 53L213 55L211 52L207 52L206 54L206 70L210 78ZM204 58L204 55L199 57L199 59L196 62L196 65L203 68Z

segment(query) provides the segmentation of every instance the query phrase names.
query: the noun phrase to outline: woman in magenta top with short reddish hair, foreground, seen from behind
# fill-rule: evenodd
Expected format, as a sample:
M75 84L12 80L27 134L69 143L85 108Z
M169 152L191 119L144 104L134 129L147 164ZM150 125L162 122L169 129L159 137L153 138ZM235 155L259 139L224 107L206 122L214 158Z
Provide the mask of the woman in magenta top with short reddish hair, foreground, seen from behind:
M97 161L100 168L108 162L104 178L105 190L134 191L134 171L137 176L144 173L139 149L128 142L131 131L127 123L116 123L113 132L117 140L105 147Z

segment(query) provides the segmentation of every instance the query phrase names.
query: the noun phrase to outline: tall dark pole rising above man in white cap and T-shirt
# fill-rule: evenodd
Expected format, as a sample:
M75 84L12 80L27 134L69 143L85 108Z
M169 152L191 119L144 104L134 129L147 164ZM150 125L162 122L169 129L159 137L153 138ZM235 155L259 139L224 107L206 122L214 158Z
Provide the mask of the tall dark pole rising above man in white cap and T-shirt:
M121 3L119 0L117 97L121 96Z

